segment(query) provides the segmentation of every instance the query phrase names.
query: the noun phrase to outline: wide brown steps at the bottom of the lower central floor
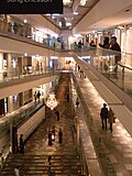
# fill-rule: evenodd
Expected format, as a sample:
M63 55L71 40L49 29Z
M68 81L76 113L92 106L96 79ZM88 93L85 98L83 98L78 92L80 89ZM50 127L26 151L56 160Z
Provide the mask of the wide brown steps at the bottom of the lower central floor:
M81 176L81 166L76 155L52 155L48 175L47 155L10 155L2 176L13 176L15 166L20 166L20 176Z

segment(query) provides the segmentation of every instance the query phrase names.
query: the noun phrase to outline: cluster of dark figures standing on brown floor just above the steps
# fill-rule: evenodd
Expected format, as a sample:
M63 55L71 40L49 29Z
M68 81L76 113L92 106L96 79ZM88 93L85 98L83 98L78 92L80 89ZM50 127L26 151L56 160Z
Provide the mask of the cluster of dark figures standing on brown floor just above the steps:
M56 130L55 127L53 127L52 130L48 131L48 145L52 146L53 142L55 142L56 138ZM63 131L62 129L58 130L58 143L62 144L63 142Z

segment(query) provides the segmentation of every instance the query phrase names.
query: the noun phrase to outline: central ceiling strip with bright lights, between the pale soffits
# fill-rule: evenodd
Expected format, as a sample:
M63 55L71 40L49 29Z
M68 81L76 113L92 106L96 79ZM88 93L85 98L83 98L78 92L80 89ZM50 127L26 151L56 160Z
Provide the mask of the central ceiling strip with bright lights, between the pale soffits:
M73 30L98 1L99 0L64 0L64 14L45 14L44 16L62 30Z

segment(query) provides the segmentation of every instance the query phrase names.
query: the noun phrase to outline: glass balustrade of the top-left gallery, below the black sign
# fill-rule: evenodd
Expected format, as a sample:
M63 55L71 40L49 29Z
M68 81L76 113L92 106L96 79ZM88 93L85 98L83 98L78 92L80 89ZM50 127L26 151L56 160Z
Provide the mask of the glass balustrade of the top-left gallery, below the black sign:
M62 43L57 42L55 37L47 36L36 29L34 29L34 32L32 32L32 28L24 24L12 25L11 23L0 21L0 33L8 34L10 36L19 36L20 40L26 38L34 41L43 45L54 47L55 50L62 48Z

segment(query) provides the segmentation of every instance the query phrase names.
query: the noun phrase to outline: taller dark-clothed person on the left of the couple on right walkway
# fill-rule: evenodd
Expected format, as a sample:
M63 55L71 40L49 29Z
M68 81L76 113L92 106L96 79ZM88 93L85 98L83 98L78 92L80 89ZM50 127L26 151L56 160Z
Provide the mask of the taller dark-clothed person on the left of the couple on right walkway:
M107 131L108 108L106 103L103 103L103 108L101 108L100 118L102 123L102 130L106 129Z

